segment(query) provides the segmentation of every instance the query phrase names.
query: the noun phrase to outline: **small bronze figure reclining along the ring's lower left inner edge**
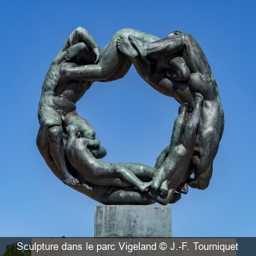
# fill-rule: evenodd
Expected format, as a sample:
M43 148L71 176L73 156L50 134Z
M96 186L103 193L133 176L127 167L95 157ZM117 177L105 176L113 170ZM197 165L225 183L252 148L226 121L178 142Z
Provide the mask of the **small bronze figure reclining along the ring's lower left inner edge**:
M106 163L96 160L88 147L97 146L97 141L88 140L86 137L78 137L80 130L77 125L68 125L66 131L68 134L66 156L71 165L87 182L93 185L115 185L121 188L135 187L139 188L141 192L150 186L150 178L152 179L155 169L149 166L137 165L138 172L142 174L144 174L145 169L147 169L147 172L148 169L151 171L151 175L146 177L148 182L141 182L130 171L128 164Z

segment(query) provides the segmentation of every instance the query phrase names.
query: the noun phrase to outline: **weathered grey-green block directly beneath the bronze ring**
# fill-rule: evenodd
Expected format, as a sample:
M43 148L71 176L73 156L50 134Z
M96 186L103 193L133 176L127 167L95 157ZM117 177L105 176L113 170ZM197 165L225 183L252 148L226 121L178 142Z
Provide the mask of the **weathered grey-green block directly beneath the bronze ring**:
M172 237L172 208L151 205L97 205L95 237Z

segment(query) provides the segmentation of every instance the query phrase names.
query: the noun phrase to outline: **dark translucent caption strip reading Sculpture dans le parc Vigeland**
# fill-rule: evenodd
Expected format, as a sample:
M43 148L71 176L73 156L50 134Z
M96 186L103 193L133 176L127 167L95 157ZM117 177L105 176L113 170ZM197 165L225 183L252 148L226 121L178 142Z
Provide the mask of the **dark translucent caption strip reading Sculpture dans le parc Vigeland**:
M26 255L237 255L255 256L256 238L0 238L7 248Z

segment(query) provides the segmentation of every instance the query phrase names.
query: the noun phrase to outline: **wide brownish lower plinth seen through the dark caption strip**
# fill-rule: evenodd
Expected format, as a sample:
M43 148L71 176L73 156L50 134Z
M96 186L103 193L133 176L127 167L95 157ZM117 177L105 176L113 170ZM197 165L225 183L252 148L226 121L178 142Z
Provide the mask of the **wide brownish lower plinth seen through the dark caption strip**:
M29 245L17 244L22 249ZM24 248L26 246L26 248ZM149 238L96 238L96 239L32 239L32 256L84 255L223 255L236 256L236 239L149 239Z

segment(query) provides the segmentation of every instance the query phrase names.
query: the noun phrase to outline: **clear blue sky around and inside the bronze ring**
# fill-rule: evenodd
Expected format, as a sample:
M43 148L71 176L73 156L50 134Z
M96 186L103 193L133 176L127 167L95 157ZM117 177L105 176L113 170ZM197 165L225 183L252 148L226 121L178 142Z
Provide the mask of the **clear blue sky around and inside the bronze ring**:
M0 236L93 236L90 198L62 184L36 147L37 106L52 59L76 27L103 49L122 28L191 33L220 88L225 131L205 191L172 206L174 236L256 236L256 3L233 1L5 1L0 3ZM108 150L105 160L153 166L169 144L178 103L134 68L93 87L77 112Z

